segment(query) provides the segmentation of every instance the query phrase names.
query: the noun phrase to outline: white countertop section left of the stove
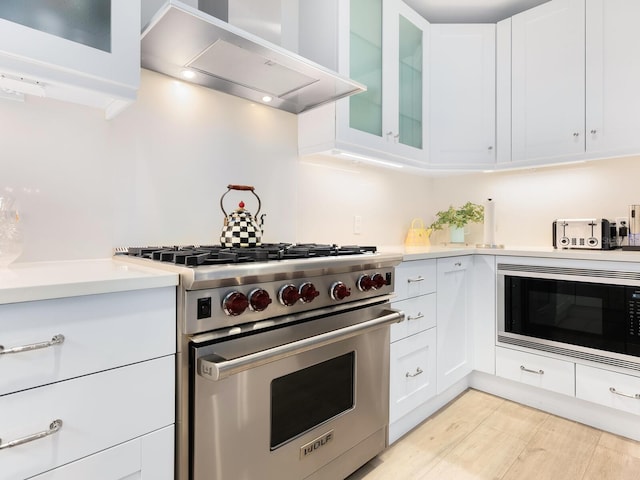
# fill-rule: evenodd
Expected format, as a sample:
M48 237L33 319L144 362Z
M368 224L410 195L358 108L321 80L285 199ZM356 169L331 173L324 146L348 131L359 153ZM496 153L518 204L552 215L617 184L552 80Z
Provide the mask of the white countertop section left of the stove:
M0 304L178 285L178 275L111 258L0 268Z

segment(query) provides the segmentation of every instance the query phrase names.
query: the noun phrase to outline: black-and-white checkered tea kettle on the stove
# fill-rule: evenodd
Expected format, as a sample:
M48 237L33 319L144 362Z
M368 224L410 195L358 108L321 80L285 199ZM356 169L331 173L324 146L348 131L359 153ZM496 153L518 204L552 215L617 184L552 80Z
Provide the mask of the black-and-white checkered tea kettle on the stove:
M224 213L224 226L220 235L220 244L223 247L257 247L261 245L262 225L264 215L260 217L260 224L256 221L262 202L260 197L254 192L254 188L249 185L228 185L228 190L220 197L220 208ZM258 211L255 217L244 209L244 202L240 202L239 208L231 215L227 215L222 200L231 190L249 191L258 199Z

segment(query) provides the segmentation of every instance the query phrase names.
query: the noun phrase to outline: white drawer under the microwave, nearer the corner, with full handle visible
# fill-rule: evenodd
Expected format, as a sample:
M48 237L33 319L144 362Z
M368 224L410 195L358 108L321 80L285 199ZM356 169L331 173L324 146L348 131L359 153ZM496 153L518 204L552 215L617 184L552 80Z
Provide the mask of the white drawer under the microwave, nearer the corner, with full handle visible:
M575 394L572 362L496 347L496 375L565 395Z

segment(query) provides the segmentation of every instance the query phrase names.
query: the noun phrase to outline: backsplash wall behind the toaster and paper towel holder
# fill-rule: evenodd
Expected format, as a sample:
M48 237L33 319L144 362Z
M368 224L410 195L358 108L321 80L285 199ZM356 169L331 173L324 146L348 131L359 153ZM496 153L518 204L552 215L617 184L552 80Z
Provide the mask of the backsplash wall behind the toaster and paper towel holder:
M436 178L432 185L433 214L467 200L495 201L496 242L506 246L551 247L556 218L628 216L630 204L640 204L640 157L588 163ZM482 241L482 228L473 242ZM442 235L432 241L443 241Z

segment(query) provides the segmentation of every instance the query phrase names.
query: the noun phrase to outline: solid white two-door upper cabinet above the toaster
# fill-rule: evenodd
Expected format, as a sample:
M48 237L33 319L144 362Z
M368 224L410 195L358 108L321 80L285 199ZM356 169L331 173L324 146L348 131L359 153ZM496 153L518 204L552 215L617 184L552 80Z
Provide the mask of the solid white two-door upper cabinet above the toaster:
M634 0L552 0L498 24L500 165L640 152L638 18Z

